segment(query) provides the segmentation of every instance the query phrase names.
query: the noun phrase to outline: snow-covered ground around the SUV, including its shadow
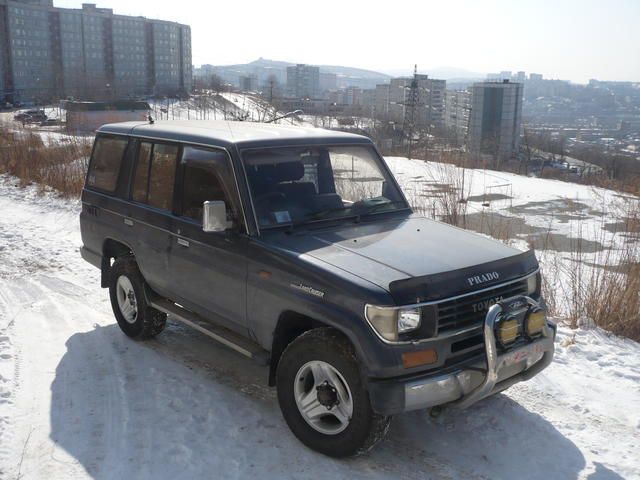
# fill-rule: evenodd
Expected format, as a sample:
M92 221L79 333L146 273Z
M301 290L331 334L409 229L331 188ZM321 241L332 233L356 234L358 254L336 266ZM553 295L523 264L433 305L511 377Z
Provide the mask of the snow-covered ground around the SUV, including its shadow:
M422 168L389 163L401 179ZM399 415L374 451L332 460L289 432L265 368L173 322L125 337L78 254L79 204L15 183L0 176L0 478L640 478L635 342L561 325L533 380L462 413Z

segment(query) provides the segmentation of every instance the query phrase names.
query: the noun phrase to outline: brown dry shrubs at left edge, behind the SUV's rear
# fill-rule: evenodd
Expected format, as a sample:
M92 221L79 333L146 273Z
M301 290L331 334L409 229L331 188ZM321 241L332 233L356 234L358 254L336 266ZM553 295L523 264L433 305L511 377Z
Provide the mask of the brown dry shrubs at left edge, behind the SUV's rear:
M62 196L82 191L91 153L91 139L63 137L46 144L31 132L2 132L0 172L20 179L23 185L51 187Z

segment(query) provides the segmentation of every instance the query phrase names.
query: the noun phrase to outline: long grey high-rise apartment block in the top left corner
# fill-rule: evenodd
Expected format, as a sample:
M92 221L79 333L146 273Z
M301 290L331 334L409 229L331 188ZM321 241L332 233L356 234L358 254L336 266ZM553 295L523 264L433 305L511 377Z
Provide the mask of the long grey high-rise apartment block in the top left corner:
M191 68L187 25L0 0L0 100L188 93Z

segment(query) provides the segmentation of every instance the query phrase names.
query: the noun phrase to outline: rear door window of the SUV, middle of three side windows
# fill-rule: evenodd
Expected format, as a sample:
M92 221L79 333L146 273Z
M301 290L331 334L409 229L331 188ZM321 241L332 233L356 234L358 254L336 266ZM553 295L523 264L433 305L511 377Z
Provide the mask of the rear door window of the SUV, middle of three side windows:
M133 181L133 199L171 210L177 162L177 145L142 142Z

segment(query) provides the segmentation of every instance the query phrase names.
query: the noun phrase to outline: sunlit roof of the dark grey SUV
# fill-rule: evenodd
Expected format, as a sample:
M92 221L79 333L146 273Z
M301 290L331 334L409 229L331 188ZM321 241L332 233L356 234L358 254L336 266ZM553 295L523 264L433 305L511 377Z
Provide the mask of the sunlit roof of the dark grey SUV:
M154 140L242 148L316 144L370 144L362 135L313 127L295 127L226 120L166 120L103 125L98 133L130 135Z

